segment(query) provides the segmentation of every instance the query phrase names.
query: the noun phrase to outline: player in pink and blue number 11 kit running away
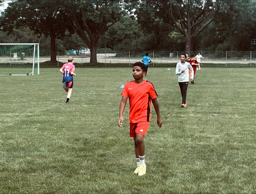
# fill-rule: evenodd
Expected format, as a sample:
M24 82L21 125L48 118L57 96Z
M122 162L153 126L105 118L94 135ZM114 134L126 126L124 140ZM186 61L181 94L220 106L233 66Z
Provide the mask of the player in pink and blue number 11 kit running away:
M63 89L68 92L67 100L66 103L68 103L71 93L72 93L72 88L73 88L73 75L75 76L75 65L73 64L74 59L72 56L68 57L68 63L65 63L61 68L60 68L60 73L63 74Z

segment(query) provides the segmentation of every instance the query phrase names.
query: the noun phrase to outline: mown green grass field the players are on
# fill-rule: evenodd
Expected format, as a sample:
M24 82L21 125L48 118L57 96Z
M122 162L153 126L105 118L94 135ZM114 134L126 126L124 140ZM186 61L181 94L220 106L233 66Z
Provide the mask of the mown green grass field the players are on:
M132 68L76 68L69 104L59 68L2 76L0 193L256 193L256 68L202 68L187 108L175 68L149 68L152 106L147 174L117 126L120 86Z

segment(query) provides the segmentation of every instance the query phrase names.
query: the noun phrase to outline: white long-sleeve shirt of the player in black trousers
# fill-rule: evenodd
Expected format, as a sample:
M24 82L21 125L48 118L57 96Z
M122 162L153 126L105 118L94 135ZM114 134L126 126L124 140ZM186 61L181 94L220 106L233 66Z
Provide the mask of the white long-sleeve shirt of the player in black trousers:
M188 62L177 63L175 74L179 76L178 82L189 82L188 69L191 70L191 74L192 74L191 79L194 79L194 70L190 63L188 63ZM181 73L182 70L185 70L185 72Z

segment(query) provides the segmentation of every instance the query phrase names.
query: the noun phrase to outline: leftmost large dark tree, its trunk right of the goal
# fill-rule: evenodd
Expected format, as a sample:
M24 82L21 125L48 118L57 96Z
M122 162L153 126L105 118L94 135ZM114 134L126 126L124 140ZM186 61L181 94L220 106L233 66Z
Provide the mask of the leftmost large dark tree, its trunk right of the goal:
M3 31L11 32L14 28L29 26L35 34L44 34L51 38L51 61L56 61L57 36L63 36L66 25L64 1L12 0L0 18Z

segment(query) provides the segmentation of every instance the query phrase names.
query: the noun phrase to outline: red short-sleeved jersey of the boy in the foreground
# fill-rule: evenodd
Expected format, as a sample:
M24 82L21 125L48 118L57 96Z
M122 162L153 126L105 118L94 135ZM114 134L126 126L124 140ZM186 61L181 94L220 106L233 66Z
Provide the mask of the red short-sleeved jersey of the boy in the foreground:
M135 83L134 81L127 82L124 85L121 95L129 98L130 123L138 123L139 121L150 122L151 99L158 97L151 82L148 82L147 80L144 80L140 84Z

